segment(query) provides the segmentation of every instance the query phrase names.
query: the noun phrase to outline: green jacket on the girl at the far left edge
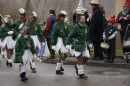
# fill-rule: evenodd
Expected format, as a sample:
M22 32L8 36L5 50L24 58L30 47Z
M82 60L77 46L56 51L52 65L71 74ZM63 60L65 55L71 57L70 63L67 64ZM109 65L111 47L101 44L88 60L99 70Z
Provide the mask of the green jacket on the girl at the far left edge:
M11 29L9 29L7 26L5 26L4 28L2 28L0 26L0 39L1 39L2 42L4 41L4 39L6 38L6 36L9 36L8 35L9 31L11 31Z

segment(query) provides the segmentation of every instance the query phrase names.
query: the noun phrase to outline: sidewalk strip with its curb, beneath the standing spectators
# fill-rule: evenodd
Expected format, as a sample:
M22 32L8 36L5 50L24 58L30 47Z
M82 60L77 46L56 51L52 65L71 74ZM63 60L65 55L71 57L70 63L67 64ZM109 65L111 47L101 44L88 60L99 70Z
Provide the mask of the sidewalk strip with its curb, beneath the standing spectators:
M106 58L105 58L106 59ZM104 59L104 60L105 60ZM121 59L120 57L116 57L114 63L106 63L104 60L91 60L89 59L87 62L87 66L97 66L97 67L113 67L113 68L127 68L130 69L130 63L126 63L126 60ZM129 60L130 62L130 60ZM43 59L43 63L56 64L56 59ZM77 63L77 59L75 57L68 57L64 64L65 65L75 65Z

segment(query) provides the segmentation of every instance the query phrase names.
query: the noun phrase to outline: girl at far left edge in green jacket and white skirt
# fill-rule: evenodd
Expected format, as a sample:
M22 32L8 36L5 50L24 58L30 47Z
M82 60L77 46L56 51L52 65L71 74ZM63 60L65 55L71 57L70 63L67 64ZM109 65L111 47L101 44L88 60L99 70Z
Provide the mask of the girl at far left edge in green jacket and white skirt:
M7 62L6 65L12 67L12 54L14 48L14 40L12 39L13 31L5 24L5 22L10 23L10 17L6 16L4 19L1 19L2 25L0 26L0 38L1 38L1 47L7 51Z

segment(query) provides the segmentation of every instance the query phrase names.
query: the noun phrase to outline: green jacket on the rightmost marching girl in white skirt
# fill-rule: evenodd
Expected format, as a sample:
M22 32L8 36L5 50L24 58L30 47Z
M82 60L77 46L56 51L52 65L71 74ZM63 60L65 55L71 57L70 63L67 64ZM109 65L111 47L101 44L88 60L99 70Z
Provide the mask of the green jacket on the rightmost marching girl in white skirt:
M66 45L70 45L73 38L75 51L84 51L86 48L86 44L89 43L88 26L86 24L84 24L83 26L81 26L80 24L76 24L72 28L66 39Z

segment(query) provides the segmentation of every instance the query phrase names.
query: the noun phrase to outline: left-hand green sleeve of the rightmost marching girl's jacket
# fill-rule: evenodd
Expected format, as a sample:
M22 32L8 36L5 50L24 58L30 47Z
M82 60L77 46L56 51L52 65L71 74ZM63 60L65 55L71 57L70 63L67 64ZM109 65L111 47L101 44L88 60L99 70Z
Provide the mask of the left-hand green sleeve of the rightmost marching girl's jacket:
M77 29L76 27L73 27L72 30L70 31L70 33L68 34L68 37L66 38L66 45L70 45L71 40L77 34L77 30L76 29Z

